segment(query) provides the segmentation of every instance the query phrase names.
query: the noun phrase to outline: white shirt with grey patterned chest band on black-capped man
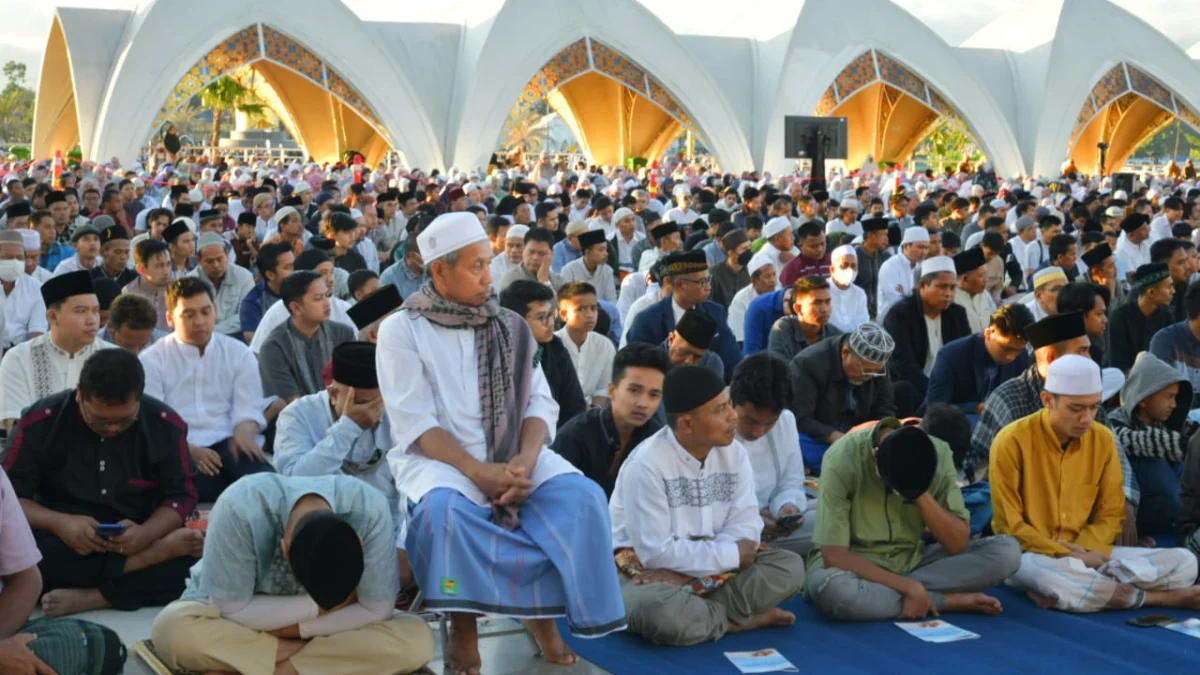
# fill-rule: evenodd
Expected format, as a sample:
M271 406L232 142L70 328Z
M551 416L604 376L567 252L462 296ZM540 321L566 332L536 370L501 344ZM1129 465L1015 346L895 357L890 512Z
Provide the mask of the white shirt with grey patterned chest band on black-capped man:
M713 448L701 464L670 428L625 460L608 515L613 549L631 546L647 569L689 577L736 569L738 540L762 534L754 468L742 443Z

